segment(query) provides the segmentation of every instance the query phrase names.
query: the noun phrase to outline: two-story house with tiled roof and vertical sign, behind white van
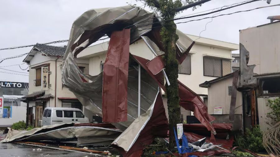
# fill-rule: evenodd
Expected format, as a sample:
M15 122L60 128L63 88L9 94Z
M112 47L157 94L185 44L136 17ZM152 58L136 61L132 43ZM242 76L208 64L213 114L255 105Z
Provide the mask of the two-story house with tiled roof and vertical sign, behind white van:
M28 104L29 123L41 125L45 107L73 107L84 111L92 122L93 113L84 109L76 96L62 84L62 58L66 47L36 45L23 60L29 65L29 92L23 97ZM79 68L88 73L88 60L77 59Z

